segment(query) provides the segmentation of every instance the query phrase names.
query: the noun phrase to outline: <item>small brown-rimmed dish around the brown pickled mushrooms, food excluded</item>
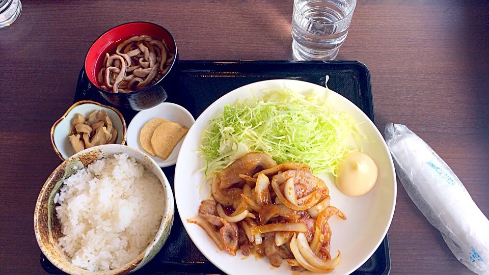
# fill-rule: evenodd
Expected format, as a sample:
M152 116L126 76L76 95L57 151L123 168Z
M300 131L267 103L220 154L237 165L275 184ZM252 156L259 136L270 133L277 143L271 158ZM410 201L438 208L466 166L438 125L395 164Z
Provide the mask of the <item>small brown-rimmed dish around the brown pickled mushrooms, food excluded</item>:
M107 112L108 117L112 120L114 128L117 130L116 144L124 144L127 131L126 122L118 109L92 100L78 101L71 105L66 113L51 127L52 148L55 149L56 154L58 154L61 160L65 160L75 153L68 140L68 133L71 129L71 119L73 119L77 113L86 117L96 110L105 110L105 112Z

